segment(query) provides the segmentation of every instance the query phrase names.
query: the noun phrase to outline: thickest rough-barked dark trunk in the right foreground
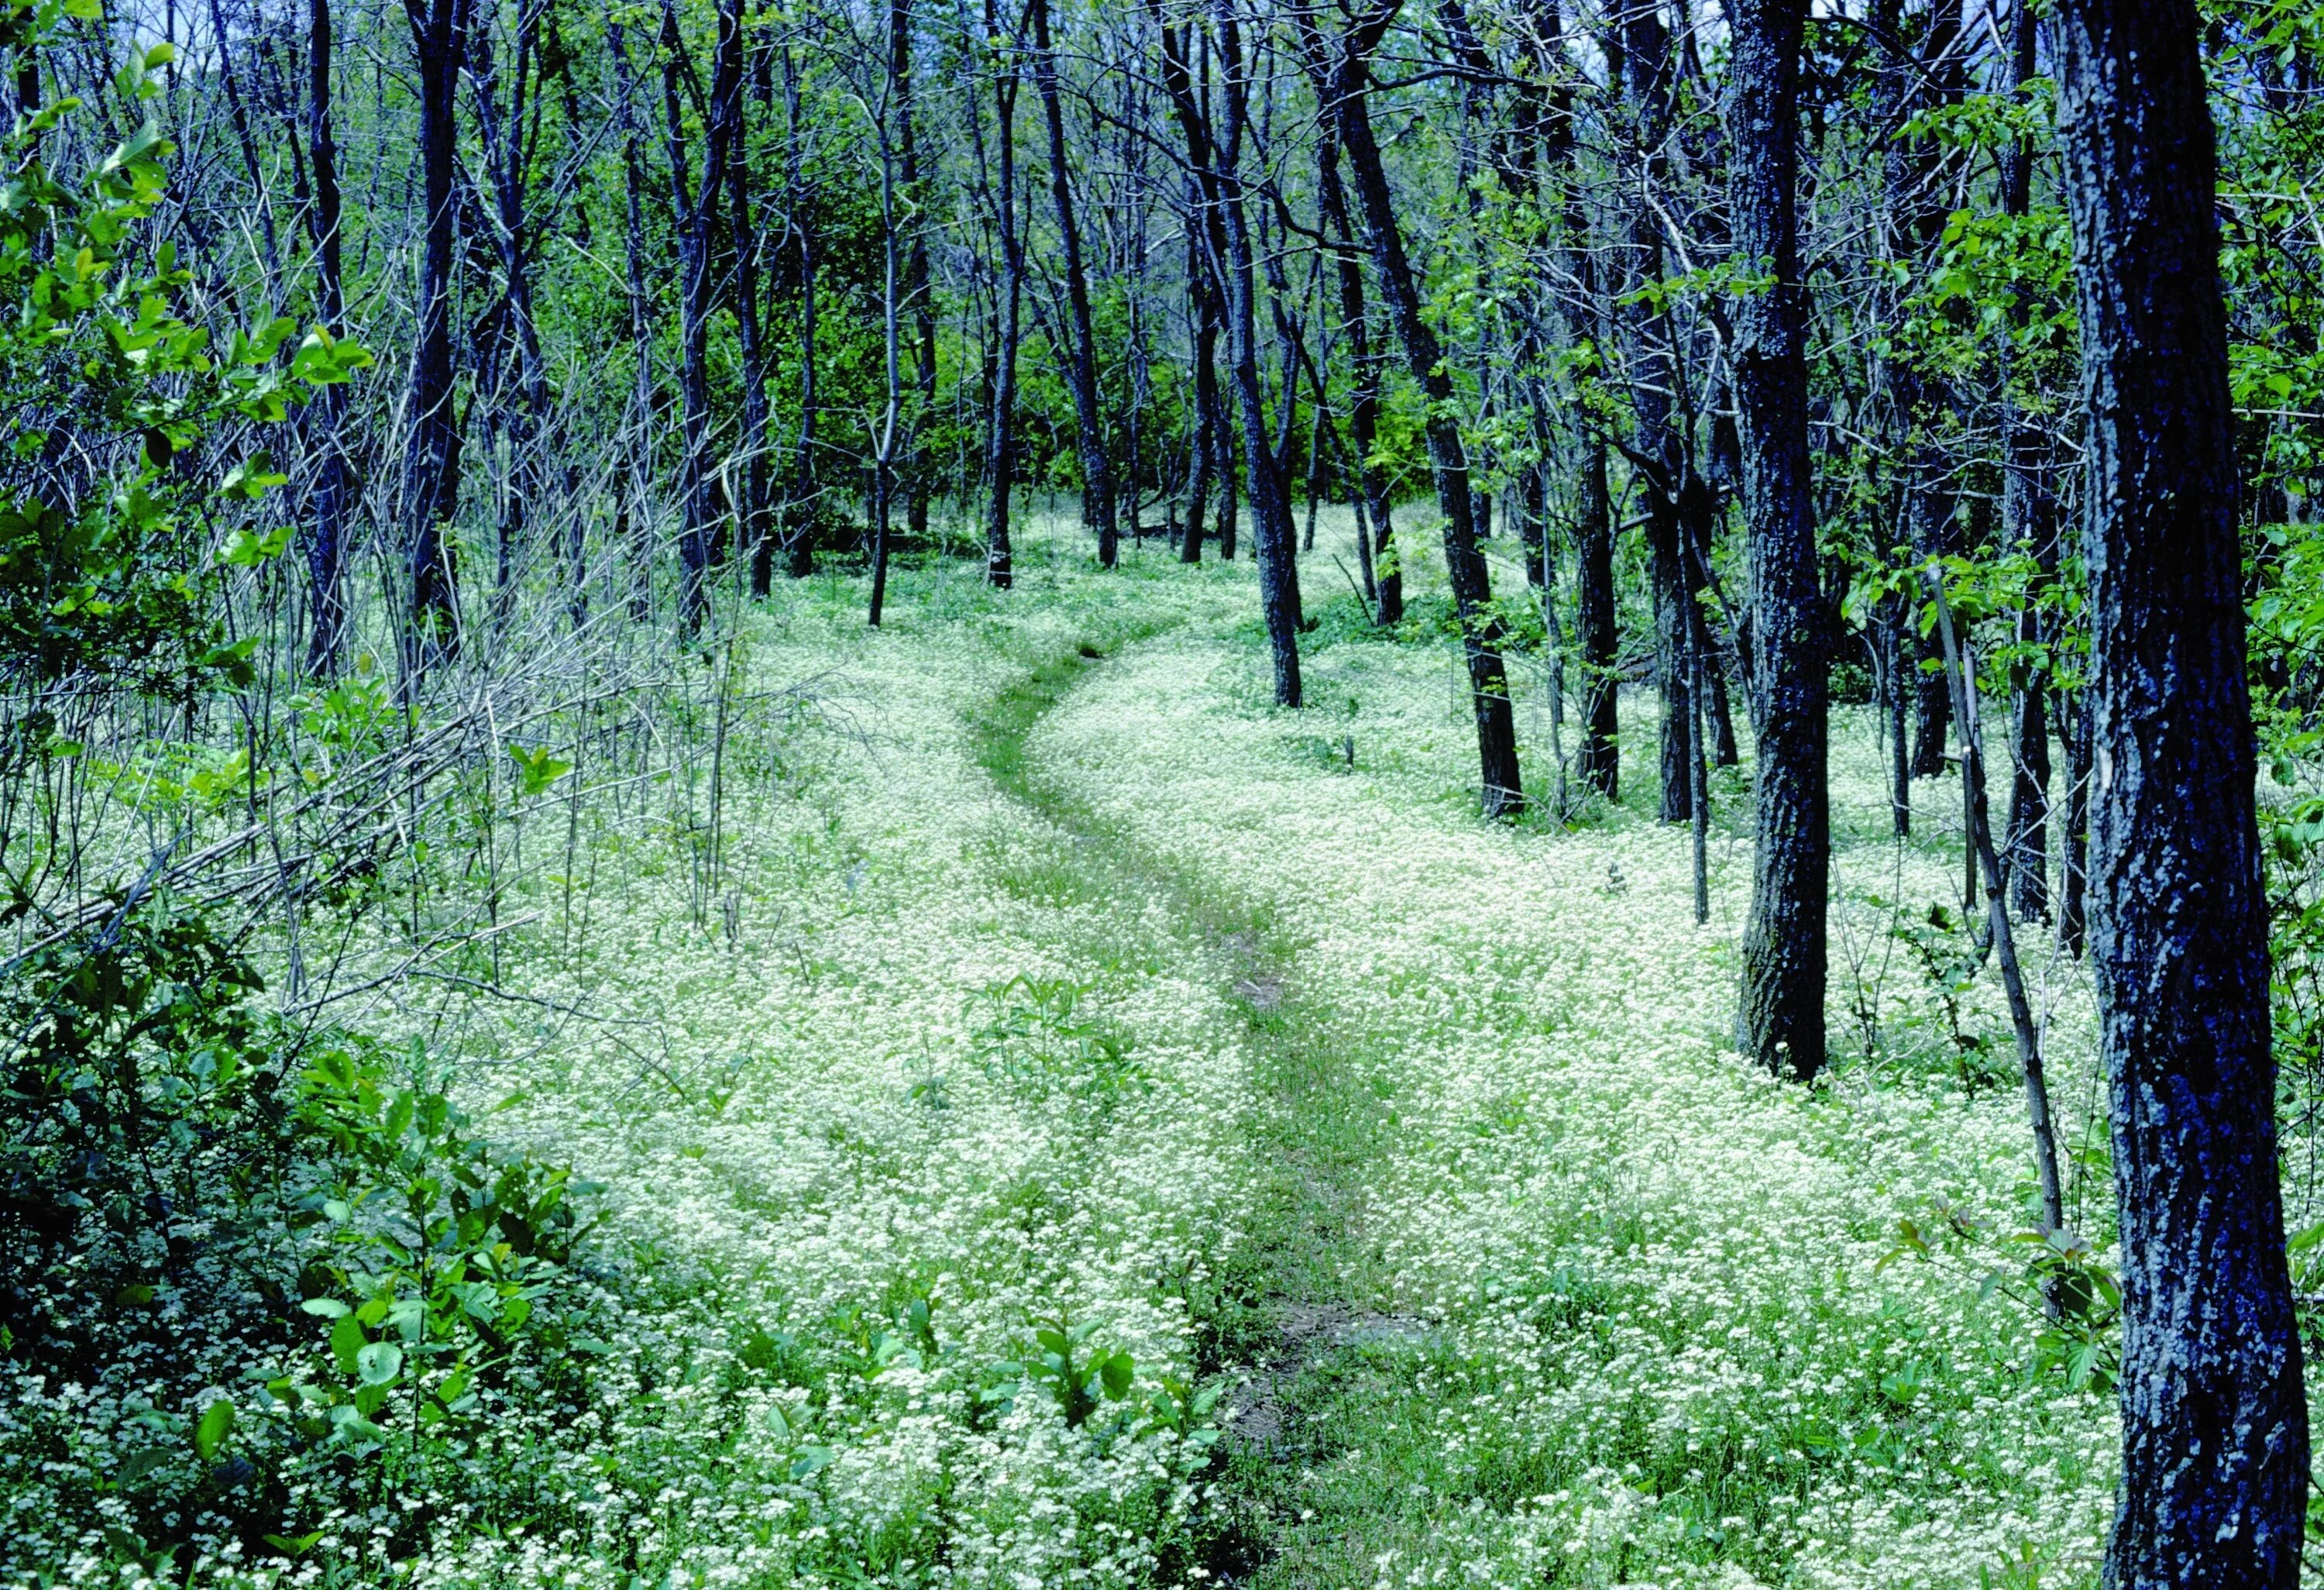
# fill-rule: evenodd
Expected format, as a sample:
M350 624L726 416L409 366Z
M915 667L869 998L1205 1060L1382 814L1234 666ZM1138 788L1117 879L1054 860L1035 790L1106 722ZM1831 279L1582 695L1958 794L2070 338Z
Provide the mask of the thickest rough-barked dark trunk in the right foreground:
M2308 1397L2284 1265L2215 142L2194 0L2061 0L2089 400L2089 874L2122 1223L2106 1581L2301 1578Z

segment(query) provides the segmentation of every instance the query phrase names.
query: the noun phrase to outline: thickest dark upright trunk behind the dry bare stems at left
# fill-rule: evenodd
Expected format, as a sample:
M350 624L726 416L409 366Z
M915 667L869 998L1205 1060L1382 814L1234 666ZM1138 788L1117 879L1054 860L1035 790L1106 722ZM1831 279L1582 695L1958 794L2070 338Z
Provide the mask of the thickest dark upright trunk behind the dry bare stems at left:
M453 404L451 274L460 209L456 93L467 53L467 0L404 0L421 67L421 295L411 349L411 439L404 446L404 570L411 621L404 667L460 646L451 516L460 502L460 414Z

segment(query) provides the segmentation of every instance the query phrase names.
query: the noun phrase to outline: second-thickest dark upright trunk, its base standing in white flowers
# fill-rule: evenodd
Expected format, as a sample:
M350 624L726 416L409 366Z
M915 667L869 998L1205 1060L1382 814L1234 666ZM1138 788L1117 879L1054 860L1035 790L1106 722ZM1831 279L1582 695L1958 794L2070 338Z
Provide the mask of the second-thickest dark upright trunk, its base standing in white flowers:
M1729 105L1736 256L1771 277L1736 314L1757 730L1757 844L1743 925L1738 1048L1776 1072L1824 1065L1824 588L1808 472L1806 288L1799 277L1799 44L1808 0L1736 0Z

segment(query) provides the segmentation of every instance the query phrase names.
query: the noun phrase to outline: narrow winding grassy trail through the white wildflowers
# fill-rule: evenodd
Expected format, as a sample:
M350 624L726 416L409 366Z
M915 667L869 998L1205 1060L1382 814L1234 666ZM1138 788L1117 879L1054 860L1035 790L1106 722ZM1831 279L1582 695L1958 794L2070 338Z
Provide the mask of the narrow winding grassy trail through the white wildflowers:
M1299 934L1262 900L1241 900L1171 867L1090 802L1041 776L1032 730L1076 686L1127 646L1167 625L1132 623L1037 662L971 718L976 762L995 786L1057 837L1053 888L1111 904L1162 900L1167 946L1199 955L1204 981L1241 1014L1257 1102L1246 1120L1262 1174L1253 1230L1197 1309L1206 1376L1236 1388L1225 1441L1225 1504L1213 1518L1206 1569L1229 1585L1369 1583L1360 1520L1301 1518L1297 1476L1327 1462L1343 1439L1311 1392L1341 1351L1411 1344L1418 1320L1362 1309L1348 1276L1369 1258L1362 1172L1394 1130L1390 1109L1348 1065L1353 1034L1311 1004L1299 979Z

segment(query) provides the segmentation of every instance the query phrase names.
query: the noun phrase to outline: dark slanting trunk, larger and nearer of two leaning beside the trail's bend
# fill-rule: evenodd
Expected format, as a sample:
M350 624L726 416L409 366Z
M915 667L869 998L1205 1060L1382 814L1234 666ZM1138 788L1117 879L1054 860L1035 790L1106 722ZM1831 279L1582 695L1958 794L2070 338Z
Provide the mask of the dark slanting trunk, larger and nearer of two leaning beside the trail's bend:
M1469 495L1469 456L1459 428L1448 414L1452 379L1446 374L1443 344L1420 311L1420 286L1404 253L1404 230L1397 223L1387 170L1371 132L1371 70L1367 56L1378 44L1385 21L1364 23L1339 40L1308 40L1308 70L1315 91L1332 112L1348 170L1355 177L1357 207L1371 244L1371 265L1387 298L1390 321L1404 344L1404 363L1429 400L1427 442L1436 472L1436 502L1443 509L1446 576L1469 656L1469 697L1476 711L1476 749L1483 776L1480 807L1487 818L1515 816L1525 807L1525 783L1518 772L1518 721L1508 700L1508 672L1501 662L1501 623L1492 614L1492 576L1476 544L1473 502Z

